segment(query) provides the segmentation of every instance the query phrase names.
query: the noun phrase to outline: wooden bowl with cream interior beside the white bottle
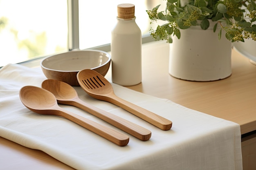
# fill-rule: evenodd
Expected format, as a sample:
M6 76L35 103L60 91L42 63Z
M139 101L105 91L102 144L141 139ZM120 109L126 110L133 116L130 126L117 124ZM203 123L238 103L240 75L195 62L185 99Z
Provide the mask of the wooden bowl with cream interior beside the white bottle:
M92 69L105 76L111 56L105 51L69 51L45 57L40 66L48 79L56 79L71 86L79 86L76 74L83 69Z

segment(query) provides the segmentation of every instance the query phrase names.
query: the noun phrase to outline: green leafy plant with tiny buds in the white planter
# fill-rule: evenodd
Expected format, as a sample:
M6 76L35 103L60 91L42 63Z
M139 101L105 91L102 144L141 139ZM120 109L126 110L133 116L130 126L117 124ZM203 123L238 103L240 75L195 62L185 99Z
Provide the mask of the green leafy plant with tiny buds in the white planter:
M156 29L151 27L150 35L155 39L172 43L172 36L180 39L180 29L189 29L200 25L203 30L209 28L209 20L216 22L228 40L242 41L252 38L256 40L256 0L166 0L166 10L158 11L159 6L146 11L151 24L159 20L164 24ZM247 19L247 20L246 20Z

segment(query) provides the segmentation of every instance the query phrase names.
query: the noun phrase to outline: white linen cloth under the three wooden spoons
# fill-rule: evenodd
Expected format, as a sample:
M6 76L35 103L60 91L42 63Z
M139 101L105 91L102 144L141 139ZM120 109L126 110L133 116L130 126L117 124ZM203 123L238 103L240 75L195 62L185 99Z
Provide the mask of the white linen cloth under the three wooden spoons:
M42 150L82 170L242 169L240 126L234 122L185 108L168 99L112 84L117 96L173 121L171 130L163 131L122 108L93 99L81 87L75 87L85 102L152 132L148 141L140 141L127 134L130 137L128 145L120 147L67 119L39 115L25 108L20 102L20 88L27 85L41 87L45 79L40 68L9 64L0 69L1 137L28 148ZM60 106L119 130L79 108Z

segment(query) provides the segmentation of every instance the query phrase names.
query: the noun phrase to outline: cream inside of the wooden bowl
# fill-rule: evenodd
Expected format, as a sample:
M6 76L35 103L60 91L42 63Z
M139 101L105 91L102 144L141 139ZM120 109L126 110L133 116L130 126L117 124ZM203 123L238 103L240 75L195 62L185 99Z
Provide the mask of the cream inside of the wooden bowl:
M81 71L102 66L110 60L103 51L70 51L45 58L41 66L55 71Z

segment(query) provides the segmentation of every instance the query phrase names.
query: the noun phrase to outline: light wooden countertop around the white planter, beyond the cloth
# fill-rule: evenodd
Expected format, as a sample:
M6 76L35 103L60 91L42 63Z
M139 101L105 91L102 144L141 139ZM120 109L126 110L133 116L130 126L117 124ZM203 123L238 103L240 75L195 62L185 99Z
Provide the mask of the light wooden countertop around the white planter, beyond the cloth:
M256 130L256 66L232 50L232 75L214 82L191 82L168 74L169 44L144 45L142 83L127 86L187 108L240 124L241 133ZM105 76L111 79L111 69Z

